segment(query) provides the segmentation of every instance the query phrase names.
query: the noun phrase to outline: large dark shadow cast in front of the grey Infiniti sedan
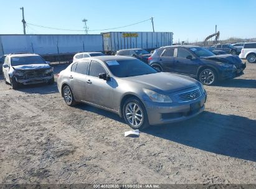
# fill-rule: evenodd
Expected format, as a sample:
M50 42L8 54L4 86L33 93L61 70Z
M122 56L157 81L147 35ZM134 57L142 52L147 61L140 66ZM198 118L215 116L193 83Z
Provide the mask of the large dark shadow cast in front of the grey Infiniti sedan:
M146 134L220 155L256 162L256 120L204 111L196 118L151 126Z

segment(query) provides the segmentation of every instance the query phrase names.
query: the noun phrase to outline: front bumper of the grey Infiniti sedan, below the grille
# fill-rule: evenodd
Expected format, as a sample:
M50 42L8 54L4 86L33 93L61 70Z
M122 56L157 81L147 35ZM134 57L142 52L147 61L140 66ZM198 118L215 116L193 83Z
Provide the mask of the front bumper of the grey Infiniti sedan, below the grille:
M154 103L143 101L151 125L167 124L190 119L204 111L207 94L183 103ZM197 107L194 108L194 104Z

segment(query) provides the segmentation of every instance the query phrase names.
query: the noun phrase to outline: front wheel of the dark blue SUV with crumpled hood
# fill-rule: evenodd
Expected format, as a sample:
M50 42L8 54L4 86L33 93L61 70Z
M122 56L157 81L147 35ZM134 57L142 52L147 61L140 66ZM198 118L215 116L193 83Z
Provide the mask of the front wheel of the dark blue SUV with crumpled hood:
M214 85L217 82L216 71L212 68L204 68L199 73L199 81L203 85Z

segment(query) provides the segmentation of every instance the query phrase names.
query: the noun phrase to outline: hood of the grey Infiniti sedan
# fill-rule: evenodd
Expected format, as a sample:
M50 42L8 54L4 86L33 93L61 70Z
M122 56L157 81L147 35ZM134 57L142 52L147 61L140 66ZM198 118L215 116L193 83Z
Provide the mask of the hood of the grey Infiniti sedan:
M132 82L133 85L139 85L138 87L140 88L146 88L159 93L172 93L174 91L198 86L197 83L199 83L187 76L166 72L131 76L122 79Z

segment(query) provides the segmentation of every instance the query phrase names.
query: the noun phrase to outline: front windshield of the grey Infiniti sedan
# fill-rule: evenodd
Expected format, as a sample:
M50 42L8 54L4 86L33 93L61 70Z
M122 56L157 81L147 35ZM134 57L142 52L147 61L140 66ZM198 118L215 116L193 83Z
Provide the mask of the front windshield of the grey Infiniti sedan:
M111 73L120 78L158 73L154 68L138 59L110 60L106 63Z

